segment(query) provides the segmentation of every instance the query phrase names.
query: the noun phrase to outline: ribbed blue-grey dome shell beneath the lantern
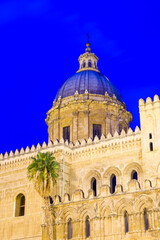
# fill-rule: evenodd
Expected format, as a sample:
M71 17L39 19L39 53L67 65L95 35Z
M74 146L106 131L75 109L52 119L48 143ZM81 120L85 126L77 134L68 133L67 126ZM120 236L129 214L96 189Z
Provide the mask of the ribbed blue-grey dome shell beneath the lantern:
M61 98L73 96L76 91L79 94L83 94L85 90L88 93L100 95L105 95L105 92L107 92L110 97L113 97L113 94L115 94L117 99L123 103L121 94L115 85L100 72L91 70L78 72L68 78L59 89L56 100L60 96Z

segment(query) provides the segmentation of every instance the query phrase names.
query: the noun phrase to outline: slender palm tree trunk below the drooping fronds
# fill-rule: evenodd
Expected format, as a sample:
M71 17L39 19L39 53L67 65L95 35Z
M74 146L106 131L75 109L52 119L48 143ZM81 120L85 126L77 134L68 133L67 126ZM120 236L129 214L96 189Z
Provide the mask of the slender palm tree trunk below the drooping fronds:
M53 240L49 197L44 198L44 204L45 204L45 221L47 224L47 232L48 232L49 240Z

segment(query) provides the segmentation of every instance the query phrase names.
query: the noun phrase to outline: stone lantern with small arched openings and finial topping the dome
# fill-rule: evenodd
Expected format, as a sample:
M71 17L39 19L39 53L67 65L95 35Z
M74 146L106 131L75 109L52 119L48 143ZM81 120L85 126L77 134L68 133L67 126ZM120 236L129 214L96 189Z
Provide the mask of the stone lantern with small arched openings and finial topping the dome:
M89 40L86 44L85 53L81 54L78 58L79 61L79 70L77 72L85 71L85 70L92 70L99 72L97 67L97 62L99 58L94 54L91 53L90 43Z

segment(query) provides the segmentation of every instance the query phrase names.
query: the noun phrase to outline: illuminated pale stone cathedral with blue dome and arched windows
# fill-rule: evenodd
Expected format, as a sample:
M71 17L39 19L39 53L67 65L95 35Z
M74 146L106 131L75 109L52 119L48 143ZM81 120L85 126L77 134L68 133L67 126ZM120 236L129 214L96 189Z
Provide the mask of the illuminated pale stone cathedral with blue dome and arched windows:
M133 131L90 43L78 61L47 112L48 143L0 155L0 240L48 240L26 174L39 151L61 167L50 195L54 240L160 240L160 99L139 100Z

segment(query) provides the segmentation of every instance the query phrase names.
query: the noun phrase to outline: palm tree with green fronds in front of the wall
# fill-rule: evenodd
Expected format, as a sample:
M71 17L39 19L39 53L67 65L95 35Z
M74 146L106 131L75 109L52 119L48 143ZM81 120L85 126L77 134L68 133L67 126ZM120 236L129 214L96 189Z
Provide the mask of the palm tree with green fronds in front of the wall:
M55 161L53 153L38 152L37 158L32 157L32 163L28 166L27 176L34 184L34 188L40 194L45 204L45 221L49 239L53 240L51 216L50 216L50 193L58 178L60 165Z

